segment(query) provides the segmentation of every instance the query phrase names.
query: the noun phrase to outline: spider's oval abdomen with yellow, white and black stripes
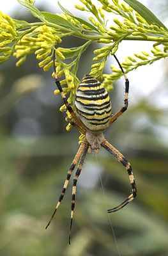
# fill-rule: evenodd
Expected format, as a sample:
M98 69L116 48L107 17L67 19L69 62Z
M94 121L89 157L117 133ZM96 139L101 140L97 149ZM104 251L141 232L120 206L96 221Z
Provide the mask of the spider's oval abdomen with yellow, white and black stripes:
M75 108L80 121L90 131L103 131L111 117L109 94L94 77L85 75L75 95Z

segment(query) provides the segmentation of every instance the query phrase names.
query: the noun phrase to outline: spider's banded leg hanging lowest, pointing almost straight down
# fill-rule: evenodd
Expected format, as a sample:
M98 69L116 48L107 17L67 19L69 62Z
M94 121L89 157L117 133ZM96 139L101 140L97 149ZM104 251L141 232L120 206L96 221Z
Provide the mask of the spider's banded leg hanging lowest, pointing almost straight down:
M73 188L72 188L72 205L71 205L71 220L70 220L70 234L69 234L69 244L70 244L70 237L71 237L71 231L72 231L72 220L73 220L73 212L75 208L75 194L76 194L76 186L77 186L77 180L80 175L80 172L82 170L82 166L84 164L84 159L86 157L86 154L88 152L89 144L86 144L84 147L84 150L82 152L82 155L80 157L79 164L77 166L77 172L75 173L75 177L73 179Z

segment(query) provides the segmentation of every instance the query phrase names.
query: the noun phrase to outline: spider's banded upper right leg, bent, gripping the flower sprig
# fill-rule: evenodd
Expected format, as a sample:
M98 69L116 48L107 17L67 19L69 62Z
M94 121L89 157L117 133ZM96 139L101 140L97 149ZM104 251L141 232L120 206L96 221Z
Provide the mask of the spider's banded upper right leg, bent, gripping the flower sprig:
M121 114L123 114L123 112L126 111L126 109L128 108L128 91L129 91L129 81L128 78L125 75L125 72L123 70L123 68L121 67L121 64L119 63L118 59L116 58L116 56L114 55L114 58L116 59L116 61L118 62L119 67L121 68L121 71L123 72L123 76L125 77L125 100L124 100L124 106L123 108L121 108L115 115L111 116L110 120L109 120L109 126L118 118L118 116L120 116Z

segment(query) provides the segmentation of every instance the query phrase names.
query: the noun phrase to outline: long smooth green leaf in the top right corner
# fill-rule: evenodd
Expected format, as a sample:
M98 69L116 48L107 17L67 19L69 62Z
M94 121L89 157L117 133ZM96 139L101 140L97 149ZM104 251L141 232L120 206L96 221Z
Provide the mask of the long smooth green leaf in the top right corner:
M139 13L149 24L157 25L158 28L162 27L166 31L168 29L164 26L164 24L151 12L146 6L139 3L137 0L124 0L127 4L129 4L135 12Z

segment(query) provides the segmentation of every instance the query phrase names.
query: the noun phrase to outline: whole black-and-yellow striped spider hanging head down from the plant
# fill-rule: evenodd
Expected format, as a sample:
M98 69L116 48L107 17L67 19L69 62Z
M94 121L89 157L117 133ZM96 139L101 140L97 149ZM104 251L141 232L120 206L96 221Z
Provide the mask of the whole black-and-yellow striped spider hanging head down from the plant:
M123 71L123 68L121 67L121 64L119 63L115 55L114 58L118 62L119 68L121 68L123 76L125 77L125 99L123 108L121 108L115 115L111 115L111 101L109 94L99 81L97 81L94 77L91 77L88 74L86 74L80 81L80 84L77 88L77 92L75 93L75 110L77 113L75 114L70 104L68 104L65 93L63 92L61 84L59 83L59 79L57 78L54 51L53 63L56 85L59 89L59 92L61 93L61 97L63 98L63 101L65 103L66 110L69 111L70 115L73 117L75 122L72 122L72 120L70 120L70 118L68 118L67 115L66 118L68 122L70 122L70 124L72 124L80 132L82 132L82 134L86 135L86 138L82 141L79 150L77 151L77 154L72 161L70 170L67 173L65 184L63 186L63 191L59 196L56 208L49 220L49 223L45 227L49 227L50 222L52 221L52 218L54 217L61 203L61 200L63 200L72 172L79 161L79 164L77 166L77 172L75 173L75 177L73 179L69 244L72 232L72 220L75 207L77 180L79 178L82 166L84 164L84 159L89 149L92 149L97 154L98 150L102 146L107 151L109 151L109 153L111 153L114 157L116 157L119 163L123 164L123 166L125 166L128 172L128 177L130 179L130 184L132 186L132 194L128 196L128 198L126 198L126 200L119 204L117 207L109 209L107 210L107 212L111 213L122 209L123 207L125 207L126 204L134 200L137 192L134 175L130 163L116 148L114 148L107 140L105 140L103 134L103 131L105 131L105 129L107 129L107 127L109 127L118 118L118 116L123 114L123 112L125 112L128 108L129 81L125 75L125 72Z

